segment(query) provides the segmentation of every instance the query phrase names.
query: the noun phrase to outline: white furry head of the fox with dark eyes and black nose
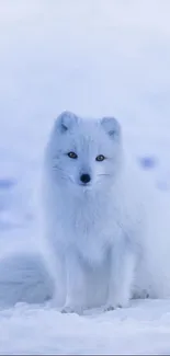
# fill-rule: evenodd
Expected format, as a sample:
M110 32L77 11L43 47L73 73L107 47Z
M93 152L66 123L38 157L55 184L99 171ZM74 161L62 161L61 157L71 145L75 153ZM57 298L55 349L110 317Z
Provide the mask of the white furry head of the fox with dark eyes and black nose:
M64 112L55 122L45 164L56 184L80 192L114 184L122 166L121 126L114 117L86 119Z

